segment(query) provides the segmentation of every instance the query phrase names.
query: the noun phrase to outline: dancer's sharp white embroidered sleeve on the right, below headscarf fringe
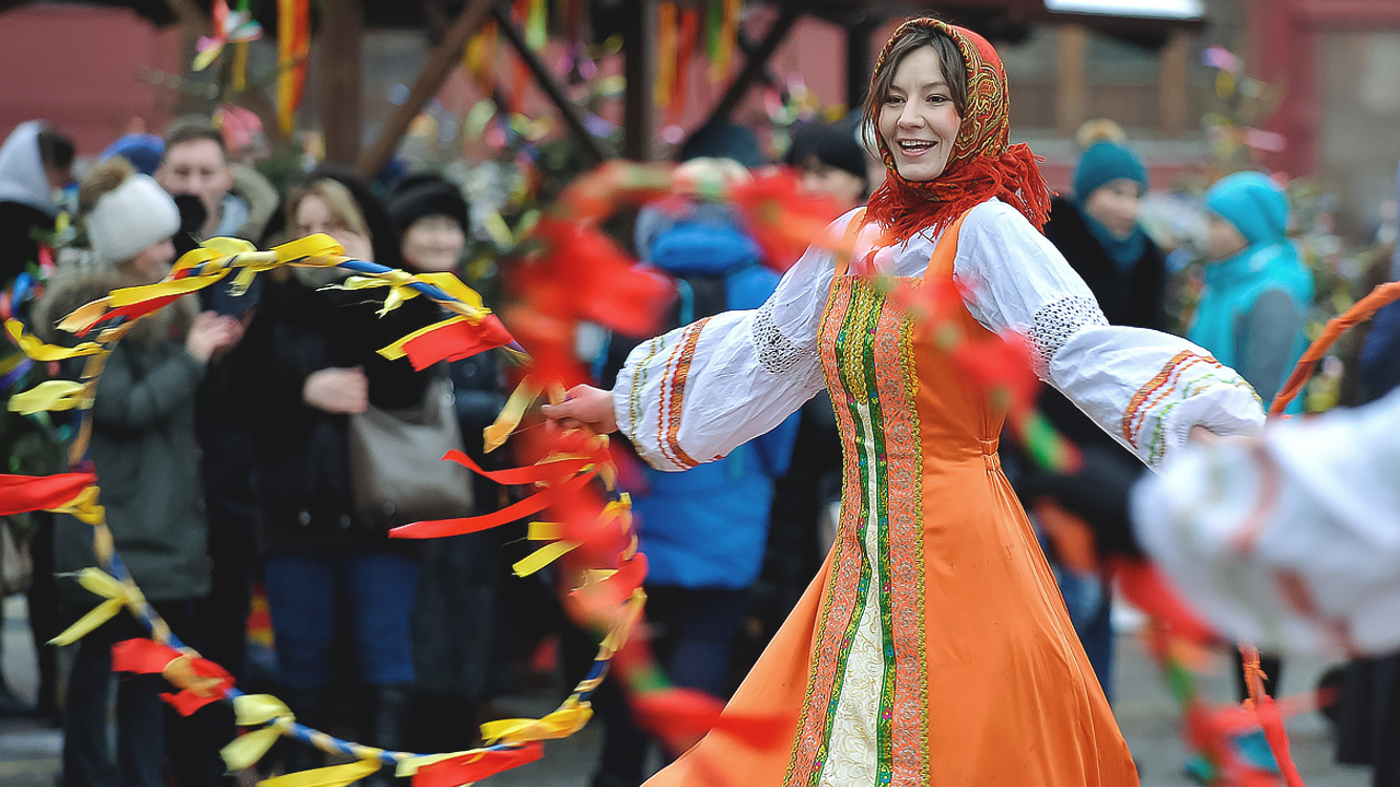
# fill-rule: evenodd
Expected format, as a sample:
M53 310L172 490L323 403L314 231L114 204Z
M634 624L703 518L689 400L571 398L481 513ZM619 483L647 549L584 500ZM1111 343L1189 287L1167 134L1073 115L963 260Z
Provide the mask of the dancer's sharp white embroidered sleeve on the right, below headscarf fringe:
M1264 423L1253 388L1201 347L1110 326L1058 249L1002 202L965 220L953 276L981 325L1026 336L1036 374L1154 468L1194 426L1254 434Z

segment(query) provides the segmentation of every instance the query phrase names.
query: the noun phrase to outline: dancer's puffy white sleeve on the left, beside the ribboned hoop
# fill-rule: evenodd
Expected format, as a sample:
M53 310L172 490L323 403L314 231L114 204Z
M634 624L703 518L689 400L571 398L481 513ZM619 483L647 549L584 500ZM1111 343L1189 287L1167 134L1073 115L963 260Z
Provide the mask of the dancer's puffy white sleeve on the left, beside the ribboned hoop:
M832 253L811 248L757 309L638 344L613 386L617 427L637 452L657 469L686 471L767 433L822 391L818 333L833 274Z

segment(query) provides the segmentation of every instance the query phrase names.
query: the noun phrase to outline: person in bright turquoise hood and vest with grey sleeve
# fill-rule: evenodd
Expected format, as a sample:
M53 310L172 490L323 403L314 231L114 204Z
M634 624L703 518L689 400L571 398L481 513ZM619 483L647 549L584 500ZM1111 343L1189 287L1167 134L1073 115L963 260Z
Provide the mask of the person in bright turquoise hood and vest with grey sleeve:
M1267 176L1228 175L1205 192L1205 206L1211 262L1186 337L1238 370L1268 406L1308 347L1312 272L1288 239L1288 197Z

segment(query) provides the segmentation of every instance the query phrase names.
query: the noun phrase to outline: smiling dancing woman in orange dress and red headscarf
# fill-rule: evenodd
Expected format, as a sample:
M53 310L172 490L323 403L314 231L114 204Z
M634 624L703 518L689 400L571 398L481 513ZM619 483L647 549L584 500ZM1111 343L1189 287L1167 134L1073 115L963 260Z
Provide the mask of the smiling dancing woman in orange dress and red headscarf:
M638 346L612 391L546 415L620 429L680 471L823 386L844 445L837 543L725 713L787 713L763 749L711 734L652 786L1131 786L1137 774L997 458L1002 413L867 276L962 293L967 332L1029 336L1039 374L1148 464L1196 427L1252 433L1254 392L1182 339L1110 328L1040 234L1049 192L1008 147L1007 80L979 35L921 18L875 67L886 181L755 311ZM718 777L718 779L717 779ZM725 779L728 777L728 779Z

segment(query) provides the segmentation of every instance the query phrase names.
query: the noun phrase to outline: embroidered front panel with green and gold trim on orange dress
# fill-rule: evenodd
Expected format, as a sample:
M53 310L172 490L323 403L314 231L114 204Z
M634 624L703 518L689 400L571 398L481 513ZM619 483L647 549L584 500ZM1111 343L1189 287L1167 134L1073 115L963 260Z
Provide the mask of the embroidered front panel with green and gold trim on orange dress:
M843 506L785 784L917 787L928 689L913 323L869 283L840 277L823 326Z

